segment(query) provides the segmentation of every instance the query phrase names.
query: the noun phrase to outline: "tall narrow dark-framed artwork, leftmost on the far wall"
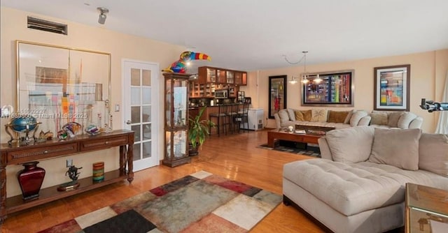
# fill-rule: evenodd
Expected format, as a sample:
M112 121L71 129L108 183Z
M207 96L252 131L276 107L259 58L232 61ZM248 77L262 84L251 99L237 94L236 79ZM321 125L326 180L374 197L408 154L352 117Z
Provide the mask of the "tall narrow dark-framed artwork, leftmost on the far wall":
M269 119L286 108L286 75L269 76Z

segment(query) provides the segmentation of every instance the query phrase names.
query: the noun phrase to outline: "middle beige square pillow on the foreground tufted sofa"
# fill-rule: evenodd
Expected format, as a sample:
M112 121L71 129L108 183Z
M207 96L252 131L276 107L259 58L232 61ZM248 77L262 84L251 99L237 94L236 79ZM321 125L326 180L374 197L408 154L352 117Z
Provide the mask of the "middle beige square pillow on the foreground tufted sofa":
M421 130L375 128L369 161L405 170L419 170Z

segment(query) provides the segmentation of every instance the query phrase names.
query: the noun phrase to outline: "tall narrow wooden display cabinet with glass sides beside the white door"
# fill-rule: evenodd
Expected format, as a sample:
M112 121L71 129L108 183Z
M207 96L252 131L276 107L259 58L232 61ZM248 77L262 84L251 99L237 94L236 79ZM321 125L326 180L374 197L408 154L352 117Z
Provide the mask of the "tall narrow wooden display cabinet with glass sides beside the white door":
M164 165L190 163L188 156L188 79L190 74L164 73L165 156Z

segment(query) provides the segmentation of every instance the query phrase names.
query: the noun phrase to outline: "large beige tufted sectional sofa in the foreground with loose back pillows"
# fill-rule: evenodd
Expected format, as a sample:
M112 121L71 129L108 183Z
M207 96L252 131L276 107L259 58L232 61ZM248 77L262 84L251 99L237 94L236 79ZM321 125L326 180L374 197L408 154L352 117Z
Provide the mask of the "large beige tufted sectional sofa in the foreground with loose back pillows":
M283 166L283 203L333 232L402 227L406 183L448 190L448 135L358 126L318 143L322 158Z

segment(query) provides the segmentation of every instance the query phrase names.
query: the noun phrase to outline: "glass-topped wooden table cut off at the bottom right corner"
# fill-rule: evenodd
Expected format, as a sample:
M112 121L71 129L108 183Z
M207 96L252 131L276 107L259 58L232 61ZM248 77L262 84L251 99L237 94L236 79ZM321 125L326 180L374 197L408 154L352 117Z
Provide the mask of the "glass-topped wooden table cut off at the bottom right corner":
M448 232L448 190L406 183L406 233Z

